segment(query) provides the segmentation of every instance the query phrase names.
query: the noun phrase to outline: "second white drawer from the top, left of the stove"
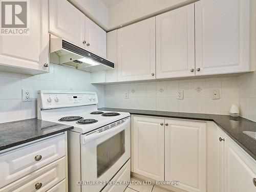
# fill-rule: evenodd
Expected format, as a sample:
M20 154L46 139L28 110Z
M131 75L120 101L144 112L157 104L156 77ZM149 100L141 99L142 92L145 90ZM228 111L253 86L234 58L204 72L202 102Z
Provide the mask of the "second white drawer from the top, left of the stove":
M66 177L65 157L46 165L35 172L0 188L0 192L33 192L46 191L59 183ZM36 189L36 184L41 183L41 187Z

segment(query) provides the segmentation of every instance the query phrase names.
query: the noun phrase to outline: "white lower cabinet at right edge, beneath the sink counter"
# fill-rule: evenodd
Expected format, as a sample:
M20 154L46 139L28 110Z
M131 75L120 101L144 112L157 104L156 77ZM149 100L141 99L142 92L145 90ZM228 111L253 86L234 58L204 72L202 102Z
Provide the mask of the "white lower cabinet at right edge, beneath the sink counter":
M224 140L222 140L224 139ZM217 138L219 145L218 156L221 159L219 169L222 169L222 177L218 174L220 192L252 192L256 190L256 161L246 154L240 146L232 141L226 134Z

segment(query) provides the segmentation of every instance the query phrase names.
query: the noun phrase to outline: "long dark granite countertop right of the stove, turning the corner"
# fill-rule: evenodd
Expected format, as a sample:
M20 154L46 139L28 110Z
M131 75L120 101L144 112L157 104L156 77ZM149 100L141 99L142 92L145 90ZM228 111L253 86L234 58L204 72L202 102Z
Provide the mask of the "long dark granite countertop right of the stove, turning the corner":
M256 132L256 122L242 117L233 118L229 115L178 113L118 108L99 108L98 110L128 112L133 115L214 121L232 140L234 140L243 148L244 151L246 151L253 159L256 160L256 140L243 133L243 131Z

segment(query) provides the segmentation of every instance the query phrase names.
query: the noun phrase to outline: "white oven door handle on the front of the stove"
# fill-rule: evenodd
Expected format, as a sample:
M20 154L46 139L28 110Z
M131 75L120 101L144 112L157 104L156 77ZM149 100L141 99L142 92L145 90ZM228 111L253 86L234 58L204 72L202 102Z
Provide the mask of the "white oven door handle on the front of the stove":
M92 133L90 135L81 135L80 142L81 142L81 144L85 144L85 143L88 143L88 142L90 142L90 141L92 141L94 139L102 137L102 136L104 136L106 134L118 133L120 131L125 130L125 128L126 128L128 123L130 123L130 119L127 119L123 123L121 123L121 124L119 124L117 126L114 126L114 127L110 128L108 130L102 131L100 133L95 132L95 133Z

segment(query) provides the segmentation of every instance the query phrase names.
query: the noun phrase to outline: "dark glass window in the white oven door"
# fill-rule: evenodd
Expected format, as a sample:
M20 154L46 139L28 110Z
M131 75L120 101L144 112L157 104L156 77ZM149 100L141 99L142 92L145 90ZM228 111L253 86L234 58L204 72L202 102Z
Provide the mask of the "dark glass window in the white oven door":
M97 145L97 177L99 178L124 154L124 130Z

